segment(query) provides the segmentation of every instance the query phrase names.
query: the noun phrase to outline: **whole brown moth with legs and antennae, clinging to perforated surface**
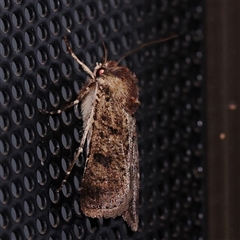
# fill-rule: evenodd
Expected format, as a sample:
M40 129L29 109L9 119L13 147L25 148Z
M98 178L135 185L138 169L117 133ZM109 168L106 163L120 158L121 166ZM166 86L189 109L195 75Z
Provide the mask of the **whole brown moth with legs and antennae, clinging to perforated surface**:
M107 61L103 43L105 59L96 64L93 72L77 58L64 37L69 53L90 78L75 101L56 112L41 112L60 114L81 103L83 136L57 191L62 189L78 157L86 149L80 205L88 217L122 216L133 231L138 230L139 157L134 117L140 105L138 80L127 67L118 64L130 53L174 37L143 44L118 62Z

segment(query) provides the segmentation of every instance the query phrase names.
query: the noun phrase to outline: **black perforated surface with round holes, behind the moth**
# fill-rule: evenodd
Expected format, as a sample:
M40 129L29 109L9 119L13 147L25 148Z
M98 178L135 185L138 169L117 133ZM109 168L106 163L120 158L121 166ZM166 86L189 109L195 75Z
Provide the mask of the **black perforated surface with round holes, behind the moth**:
M204 239L202 1L0 1L0 239ZM92 25L82 17L87 16ZM172 33L127 57L139 79L139 231L121 217L82 215L79 159L59 187L81 138L81 115L47 116L77 96L90 68Z

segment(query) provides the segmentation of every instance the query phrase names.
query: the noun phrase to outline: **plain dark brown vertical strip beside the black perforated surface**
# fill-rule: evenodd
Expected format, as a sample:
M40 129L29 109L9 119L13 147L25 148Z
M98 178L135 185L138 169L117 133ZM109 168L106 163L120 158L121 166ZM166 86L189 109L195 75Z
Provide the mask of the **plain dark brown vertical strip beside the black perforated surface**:
M240 239L240 2L206 1L208 239Z

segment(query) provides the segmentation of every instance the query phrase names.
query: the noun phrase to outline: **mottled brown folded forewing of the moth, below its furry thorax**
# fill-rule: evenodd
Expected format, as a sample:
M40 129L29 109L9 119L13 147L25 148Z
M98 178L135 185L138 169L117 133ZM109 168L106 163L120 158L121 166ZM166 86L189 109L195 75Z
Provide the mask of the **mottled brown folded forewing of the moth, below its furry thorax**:
M133 161L138 161L135 121L106 89L99 89L95 103L91 141L82 179L81 208L89 217L124 216L129 222L133 188L138 188L138 172L133 174ZM137 167L136 167L137 166ZM138 163L135 170L138 171ZM134 195L134 196L133 196ZM135 200L134 200L135 201ZM136 215L136 214L134 214ZM136 218L134 216L133 218Z

